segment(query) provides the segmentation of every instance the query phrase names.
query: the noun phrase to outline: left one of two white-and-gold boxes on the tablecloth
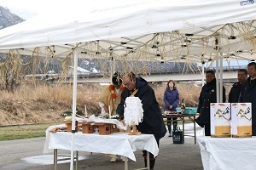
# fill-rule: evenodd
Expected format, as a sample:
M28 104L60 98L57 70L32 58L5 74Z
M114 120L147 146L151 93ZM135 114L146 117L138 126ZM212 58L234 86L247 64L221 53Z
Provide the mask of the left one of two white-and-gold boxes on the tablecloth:
M211 103L211 136L212 137L230 137L230 103Z

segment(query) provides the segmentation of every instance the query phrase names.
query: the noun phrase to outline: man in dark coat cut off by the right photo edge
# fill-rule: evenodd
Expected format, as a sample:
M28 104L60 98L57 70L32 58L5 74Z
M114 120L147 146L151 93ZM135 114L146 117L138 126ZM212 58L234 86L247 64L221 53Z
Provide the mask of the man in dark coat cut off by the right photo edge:
M249 63L247 72L249 77L242 84L241 102L252 103L252 134L256 136L256 63Z

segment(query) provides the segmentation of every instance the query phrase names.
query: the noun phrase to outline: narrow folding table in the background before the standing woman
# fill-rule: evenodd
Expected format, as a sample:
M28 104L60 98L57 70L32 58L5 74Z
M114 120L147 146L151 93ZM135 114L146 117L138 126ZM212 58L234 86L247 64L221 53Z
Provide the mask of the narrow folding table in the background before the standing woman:
M170 121L166 121L166 122L183 122L183 141L184 140L184 136L186 136L185 134L185 122L193 122L194 123L194 142L196 144L196 130L195 130L195 116L196 114L181 114L178 112L175 112L174 114L163 114L162 115L163 118L177 118L177 120L170 120Z

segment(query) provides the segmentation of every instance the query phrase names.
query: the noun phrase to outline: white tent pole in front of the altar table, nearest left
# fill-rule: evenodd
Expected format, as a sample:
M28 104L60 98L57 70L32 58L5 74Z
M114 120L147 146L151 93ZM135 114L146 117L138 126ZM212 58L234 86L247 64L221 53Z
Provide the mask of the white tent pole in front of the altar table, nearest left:
M71 157L70 157L70 170L73 170L73 144L75 133L75 119L76 119L76 105L77 105L77 76L78 76L78 51L74 51L73 62L73 114L72 114L72 139L71 139Z

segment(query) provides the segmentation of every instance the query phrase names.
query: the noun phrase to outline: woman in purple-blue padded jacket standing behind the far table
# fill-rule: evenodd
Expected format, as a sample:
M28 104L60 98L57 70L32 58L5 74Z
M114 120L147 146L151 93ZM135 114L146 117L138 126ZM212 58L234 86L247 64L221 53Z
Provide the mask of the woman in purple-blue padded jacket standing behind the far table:
M175 82L169 80L167 83L166 91L164 94L164 101L166 104L166 111L177 111L177 104L179 103L179 94L177 88L175 87ZM177 118L167 118L167 127L169 131L169 137L172 137L172 122L177 120ZM177 121L173 121L173 131L177 129Z

